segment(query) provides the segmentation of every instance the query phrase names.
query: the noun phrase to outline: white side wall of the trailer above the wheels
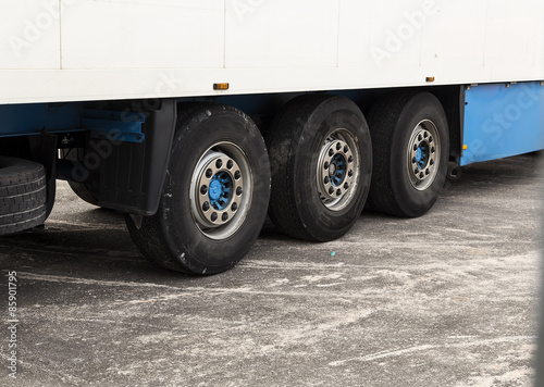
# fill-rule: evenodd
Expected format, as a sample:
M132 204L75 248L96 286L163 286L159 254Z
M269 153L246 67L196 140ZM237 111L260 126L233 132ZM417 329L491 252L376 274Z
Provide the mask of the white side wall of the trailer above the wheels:
M30 0L0 14L0 103L544 79L539 0Z

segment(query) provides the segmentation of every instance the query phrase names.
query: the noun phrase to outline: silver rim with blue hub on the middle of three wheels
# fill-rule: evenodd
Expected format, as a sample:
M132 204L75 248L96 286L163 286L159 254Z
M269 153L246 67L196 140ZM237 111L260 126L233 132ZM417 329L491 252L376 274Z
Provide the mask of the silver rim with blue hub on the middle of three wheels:
M346 129L333 130L320 150L317 183L323 205L341 211L357 191L361 158L355 137Z

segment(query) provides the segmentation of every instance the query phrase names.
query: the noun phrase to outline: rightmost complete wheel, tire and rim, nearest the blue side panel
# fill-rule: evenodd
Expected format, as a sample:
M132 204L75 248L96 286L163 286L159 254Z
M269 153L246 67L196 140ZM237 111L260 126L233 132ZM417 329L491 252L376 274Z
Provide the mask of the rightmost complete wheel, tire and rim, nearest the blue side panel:
M417 217L436 202L449 159L446 114L430 92L404 91L371 109L373 171L370 207L385 214Z

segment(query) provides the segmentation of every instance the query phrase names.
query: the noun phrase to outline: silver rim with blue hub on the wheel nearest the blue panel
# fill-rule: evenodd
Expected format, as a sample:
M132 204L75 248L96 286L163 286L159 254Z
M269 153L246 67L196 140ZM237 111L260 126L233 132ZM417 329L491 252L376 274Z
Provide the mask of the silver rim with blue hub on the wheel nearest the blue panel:
M441 151L436 125L429 120L421 121L412 130L407 150L408 176L415 189L422 191L433 184L440 168Z

